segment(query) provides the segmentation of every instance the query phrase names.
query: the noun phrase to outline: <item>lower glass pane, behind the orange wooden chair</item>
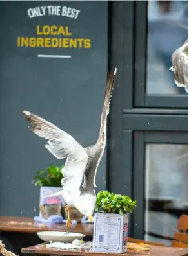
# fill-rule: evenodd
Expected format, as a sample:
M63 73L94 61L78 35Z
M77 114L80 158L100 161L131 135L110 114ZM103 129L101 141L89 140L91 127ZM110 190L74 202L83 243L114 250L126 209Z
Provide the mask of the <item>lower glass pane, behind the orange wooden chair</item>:
M147 144L145 239L170 245L177 221L188 214L188 145Z

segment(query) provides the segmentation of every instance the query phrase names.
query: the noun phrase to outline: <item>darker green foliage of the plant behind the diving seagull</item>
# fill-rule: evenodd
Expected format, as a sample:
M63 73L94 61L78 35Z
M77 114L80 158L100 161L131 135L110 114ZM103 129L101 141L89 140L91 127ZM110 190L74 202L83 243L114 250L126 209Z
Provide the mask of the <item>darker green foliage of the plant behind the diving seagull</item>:
M61 187L61 180L64 178L61 167L49 165L46 170L39 170L37 175L32 180L35 186L46 186L46 187Z

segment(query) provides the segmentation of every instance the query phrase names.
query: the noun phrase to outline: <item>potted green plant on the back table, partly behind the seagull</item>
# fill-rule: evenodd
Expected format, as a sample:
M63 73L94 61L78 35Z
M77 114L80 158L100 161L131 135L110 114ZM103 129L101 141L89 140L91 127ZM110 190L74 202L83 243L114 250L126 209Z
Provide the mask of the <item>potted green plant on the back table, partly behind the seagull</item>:
M39 215L48 218L51 215L61 215L61 209L65 205L62 196L47 197L50 194L62 190L61 180L64 178L61 167L49 165L46 170L39 170L32 183L40 187Z

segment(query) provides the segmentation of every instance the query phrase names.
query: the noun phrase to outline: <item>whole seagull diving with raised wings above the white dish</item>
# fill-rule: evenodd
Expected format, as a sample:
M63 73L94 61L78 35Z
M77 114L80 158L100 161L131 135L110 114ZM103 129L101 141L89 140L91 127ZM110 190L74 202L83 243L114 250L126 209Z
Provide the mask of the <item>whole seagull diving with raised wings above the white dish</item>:
M47 140L45 148L57 159L66 158L65 166L61 169L64 176L61 180L63 190L50 196L63 196L68 211L67 227L72 226L71 207L88 216L92 222L96 203L95 177L106 146L107 117L116 73L117 68L107 76L99 137L92 146L83 148L71 135L54 124L29 111L23 111L25 119L30 123L30 130Z

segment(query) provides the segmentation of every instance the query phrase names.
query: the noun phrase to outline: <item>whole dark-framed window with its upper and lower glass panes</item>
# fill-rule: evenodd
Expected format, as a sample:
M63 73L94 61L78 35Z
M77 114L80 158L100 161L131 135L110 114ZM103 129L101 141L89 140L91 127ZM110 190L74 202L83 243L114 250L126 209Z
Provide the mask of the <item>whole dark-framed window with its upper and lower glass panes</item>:
M108 124L107 185L110 191L137 200L129 230L130 237L137 239L157 241L156 231L162 241L172 235L175 229L170 226L175 227L181 212L188 211L187 163L181 160L188 154L188 94L176 87L169 70L174 49L184 43L188 33L185 5L185 1L109 3L109 64L117 65L118 72ZM166 22L173 20L176 10L179 18ZM177 38L172 49L167 45L170 36ZM161 183L163 172L172 176L166 178L167 187ZM178 200L181 196L182 205ZM162 198L169 211L162 209ZM169 226L163 220L168 220ZM169 240L163 242L170 244Z

